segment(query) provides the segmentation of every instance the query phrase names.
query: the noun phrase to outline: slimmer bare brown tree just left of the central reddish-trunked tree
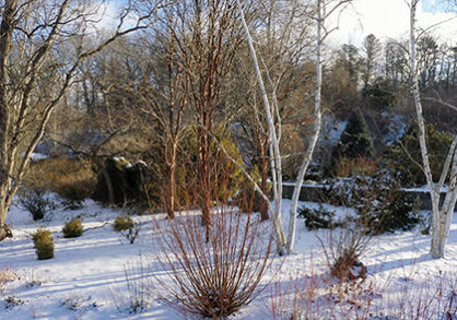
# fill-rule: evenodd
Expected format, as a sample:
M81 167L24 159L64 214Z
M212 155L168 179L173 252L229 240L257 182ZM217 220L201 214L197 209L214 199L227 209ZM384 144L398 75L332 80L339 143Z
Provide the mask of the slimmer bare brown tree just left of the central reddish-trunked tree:
M176 40L171 36L176 24L173 19L168 15L157 24L156 37L143 38L142 46L150 57L138 61L143 74L140 104L142 112L154 126L153 135L161 149L162 158L157 159L156 166L164 176L163 202L168 218L175 217L178 146L185 135L185 112L189 108L185 70L178 61ZM139 57L140 60L143 58Z

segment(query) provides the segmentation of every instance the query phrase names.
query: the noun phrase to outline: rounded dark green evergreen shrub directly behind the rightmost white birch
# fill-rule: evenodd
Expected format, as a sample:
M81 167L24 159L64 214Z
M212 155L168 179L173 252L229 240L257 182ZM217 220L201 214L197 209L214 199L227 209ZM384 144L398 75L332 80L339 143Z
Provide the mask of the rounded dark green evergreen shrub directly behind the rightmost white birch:
M432 176L436 181L440 178L443 164L453 143L453 137L448 133L436 131L433 125L429 125L426 127L425 143L429 149ZM402 186L422 186L426 183L425 175L421 168L422 156L418 140L418 126L415 123L397 143L387 150L386 156L400 174L399 179Z

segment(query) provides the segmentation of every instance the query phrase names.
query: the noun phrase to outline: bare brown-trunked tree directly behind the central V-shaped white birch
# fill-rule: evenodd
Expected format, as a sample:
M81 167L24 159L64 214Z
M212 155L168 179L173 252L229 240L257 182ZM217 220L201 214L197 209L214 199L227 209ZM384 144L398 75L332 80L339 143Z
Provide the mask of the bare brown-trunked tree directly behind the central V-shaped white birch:
M261 56L261 72L267 80L266 90L278 103L272 115L274 126L289 123L285 128L286 134L293 132L296 137L300 137L297 131L303 129L302 119L309 114L307 104L303 103L303 92L307 92L306 85L313 85L313 81L307 81L308 78L314 78L313 72L306 69L310 43L314 42L313 23L304 13L307 5L307 2L302 1L257 2L255 26L251 25L251 28L256 28L255 43ZM243 46L243 50L237 55L233 73L235 90L231 104L234 106L232 112L237 138L248 157L248 166L258 169L260 189L267 194L270 133L248 47ZM239 92L239 86L246 90ZM280 135L278 139L281 142ZM291 140L283 140L285 143L281 143L283 152ZM297 140L302 142L302 139ZM268 205L261 198L259 211L261 220L270 218Z

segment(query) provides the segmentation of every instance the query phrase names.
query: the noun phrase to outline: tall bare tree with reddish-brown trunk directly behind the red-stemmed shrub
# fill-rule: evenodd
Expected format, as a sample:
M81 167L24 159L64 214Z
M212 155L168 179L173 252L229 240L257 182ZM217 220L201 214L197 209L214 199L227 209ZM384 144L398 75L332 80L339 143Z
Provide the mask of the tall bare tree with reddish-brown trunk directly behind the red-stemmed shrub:
M241 44L234 0L183 0L164 11L184 70L187 104L194 110L198 135L198 191L203 225L211 225L211 133L214 114L235 52ZM209 229L207 228L207 232Z

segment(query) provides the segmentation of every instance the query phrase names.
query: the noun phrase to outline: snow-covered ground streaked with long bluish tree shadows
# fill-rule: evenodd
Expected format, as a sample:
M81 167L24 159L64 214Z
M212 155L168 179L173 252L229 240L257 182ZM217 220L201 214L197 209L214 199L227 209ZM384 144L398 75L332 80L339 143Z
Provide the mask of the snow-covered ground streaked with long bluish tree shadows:
M288 206L289 201L284 201L284 212L288 212ZM161 289L155 286L151 274L157 270L156 256L160 254L153 244L156 230L151 216L136 217L142 228L137 241L130 245L113 230L113 221L119 213L93 201L86 201L77 211L55 210L51 216L45 217L45 225L55 238L55 258L39 261L31 239L31 234L39 225L32 221L27 212L13 206L8 223L13 227L14 238L0 242L0 271L11 275L0 292L0 319L186 319L159 298ZM61 233L62 225L73 216L83 216L86 230L79 238L66 239ZM288 282L298 284L301 280L312 278L313 275L318 278L319 274L326 273L316 234L306 230L303 220L297 223L296 253L286 258L276 257L272 269L281 269L274 278L262 282L271 282L269 288L231 319L274 319L270 309L273 301L286 299L282 289ZM319 232L318 235L325 238L325 233ZM402 308L401 304L407 303L405 299L420 300L423 296L426 303L426 297L441 293L442 300L449 301L447 297L452 289L457 291L457 215L454 216L446 258L431 259L429 246L430 236L418 230L385 234L372 239L361 258L368 268L368 278L353 288L366 294L365 298L373 305L370 311L372 318L361 319L403 319L380 316L388 315L384 310L389 308ZM136 268L140 263L144 266L141 274L131 274L140 270ZM147 283L150 288L147 307L137 313L131 313L129 307L126 269L130 278L142 278L141 283ZM442 286L442 291L435 289L435 286ZM321 292L328 294L324 288ZM356 309L356 304L351 303L349 296L344 299L333 304L338 311L330 312L333 315L331 319L355 319L354 313L344 313L344 310ZM453 299L456 306L457 297ZM317 309L327 308L324 307L327 303L317 299L313 304ZM286 309L286 303L283 305L281 308ZM431 305L429 308L437 317L437 307ZM455 315L449 317L454 318L442 319L457 319ZM279 315L276 319L282 318Z

